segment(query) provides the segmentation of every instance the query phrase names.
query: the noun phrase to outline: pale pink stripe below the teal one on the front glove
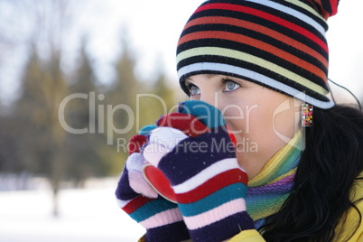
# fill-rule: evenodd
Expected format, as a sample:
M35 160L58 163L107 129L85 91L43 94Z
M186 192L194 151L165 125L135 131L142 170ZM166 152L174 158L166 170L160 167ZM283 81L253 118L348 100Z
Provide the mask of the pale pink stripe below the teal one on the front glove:
M231 200L199 215L184 217L184 221L187 227L192 230L209 226L211 223L225 219L240 211L246 211L246 202L244 199Z

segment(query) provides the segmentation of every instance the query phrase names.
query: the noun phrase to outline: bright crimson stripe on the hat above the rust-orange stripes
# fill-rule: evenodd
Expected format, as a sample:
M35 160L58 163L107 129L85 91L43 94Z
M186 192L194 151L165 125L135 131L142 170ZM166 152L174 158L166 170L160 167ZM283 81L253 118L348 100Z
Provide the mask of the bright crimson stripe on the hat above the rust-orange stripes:
M198 13L200 11L210 10L210 9L222 9L222 10L229 10L229 11L237 11L245 14L251 14L255 15L257 17L263 18L265 20L268 20L270 22L274 22L277 24L280 24L288 29L293 30L294 32L301 33L303 36L311 39L313 42L316 42L321 46L321 48L324 51L329 51L328 46L325 42L323 42L318 36L315 34L309 32L308 30L302 28L301 26L288 22L280 17L277 17L273 14L267 14L261 10L258 10L256 8L251 8L247 6L241 6L241 5L231 5L231 4L209 4L209 5L201 5L195 13Z

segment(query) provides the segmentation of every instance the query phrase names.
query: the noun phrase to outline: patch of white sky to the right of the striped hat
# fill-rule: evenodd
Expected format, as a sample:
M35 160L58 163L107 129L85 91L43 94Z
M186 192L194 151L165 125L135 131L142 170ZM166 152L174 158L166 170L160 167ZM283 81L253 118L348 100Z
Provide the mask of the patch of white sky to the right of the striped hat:
M329 77L363 98L363 19L361 0L340 1L338 14L328 23L327 39L330 48ZM334 89L333 89L334 90ZM337 90L339 91L339 90Z

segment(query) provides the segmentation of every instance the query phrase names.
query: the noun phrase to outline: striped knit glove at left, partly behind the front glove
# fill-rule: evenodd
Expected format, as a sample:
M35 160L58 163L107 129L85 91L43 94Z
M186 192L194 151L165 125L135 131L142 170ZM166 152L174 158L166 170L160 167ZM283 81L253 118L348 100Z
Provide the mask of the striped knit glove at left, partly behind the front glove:
M144 157L140 149L146 133L131 138L129 157L118 181L116 200L121 209L146 228L145 241L182 241L190 238L177 205L158 196L141 173Z

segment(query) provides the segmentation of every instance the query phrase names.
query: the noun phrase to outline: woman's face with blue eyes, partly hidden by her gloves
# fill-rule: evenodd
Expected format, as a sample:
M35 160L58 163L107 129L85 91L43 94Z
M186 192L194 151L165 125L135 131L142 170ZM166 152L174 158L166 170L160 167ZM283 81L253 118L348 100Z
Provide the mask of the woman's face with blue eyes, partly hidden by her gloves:
M223 75L185 79L192 100L218 107L237 139L237 160L249 179L296 133L301 102L256 83Z

